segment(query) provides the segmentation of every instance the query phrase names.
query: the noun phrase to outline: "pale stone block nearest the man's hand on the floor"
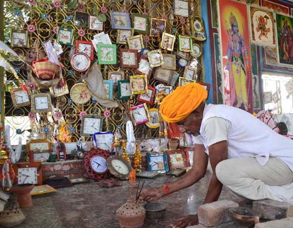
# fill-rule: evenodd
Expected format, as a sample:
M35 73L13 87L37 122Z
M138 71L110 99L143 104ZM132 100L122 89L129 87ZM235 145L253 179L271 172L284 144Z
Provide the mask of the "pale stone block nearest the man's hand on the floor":
M198 208L198 221L206 227L229 223L233 221L233 218L230 217L228 212L230 207L239 207L239 205L231 200L221 200L204 204Z

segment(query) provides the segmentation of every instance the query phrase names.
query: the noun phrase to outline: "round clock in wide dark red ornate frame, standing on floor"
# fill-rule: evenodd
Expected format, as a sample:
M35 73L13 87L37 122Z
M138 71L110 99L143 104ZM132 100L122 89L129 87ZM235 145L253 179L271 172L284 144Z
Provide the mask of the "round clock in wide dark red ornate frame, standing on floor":
M100 181L109 178L110 173L106 166L109 153L102 149L92 149L84 156L85 173L89 178Z

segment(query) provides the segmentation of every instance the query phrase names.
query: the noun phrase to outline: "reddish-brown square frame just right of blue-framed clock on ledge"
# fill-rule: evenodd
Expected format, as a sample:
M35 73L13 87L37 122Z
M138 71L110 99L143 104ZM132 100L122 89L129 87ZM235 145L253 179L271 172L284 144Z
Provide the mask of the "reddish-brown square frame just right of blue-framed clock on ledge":
M170 170L174 168L184 168L188 166L185 151L183 149L168 150L166 153Z

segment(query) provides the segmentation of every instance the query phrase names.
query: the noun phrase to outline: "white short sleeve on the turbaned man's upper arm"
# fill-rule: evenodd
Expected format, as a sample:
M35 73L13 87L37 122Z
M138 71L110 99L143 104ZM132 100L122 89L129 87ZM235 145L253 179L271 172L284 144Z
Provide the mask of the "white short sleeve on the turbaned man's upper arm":
M204 134L207 140L207 146L228 140L228 132L231 126L229 120L221 117L211 117L206 121Z

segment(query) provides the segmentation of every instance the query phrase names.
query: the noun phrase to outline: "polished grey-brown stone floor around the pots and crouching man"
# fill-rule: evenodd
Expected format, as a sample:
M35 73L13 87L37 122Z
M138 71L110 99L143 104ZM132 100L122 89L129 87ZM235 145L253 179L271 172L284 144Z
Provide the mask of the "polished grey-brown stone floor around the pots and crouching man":
M170 223L187 214L195 214L204 202L211 174L197 184L175 192L159 201L168 204L161 220L145 220L142 228L168 228ZM145 187L157 187L175 180L161 174L146 179ZM33 196L33 206L24 208L25 221L15 228L120 228L115 211L121 207L133 189L128 181L120 187L102 188L97 182L58 188L57 192ZM223 189L220 199L239 202L239 198ZM217 228L237 228L226 224Z

